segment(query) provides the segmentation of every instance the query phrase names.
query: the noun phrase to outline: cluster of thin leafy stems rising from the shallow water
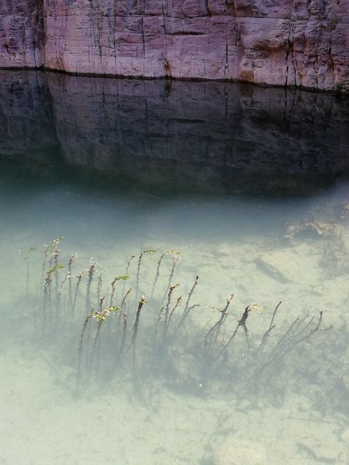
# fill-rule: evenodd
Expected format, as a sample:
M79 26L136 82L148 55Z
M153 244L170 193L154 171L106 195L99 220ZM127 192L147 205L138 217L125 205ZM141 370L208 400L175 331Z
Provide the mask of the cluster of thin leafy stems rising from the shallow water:
M199 275L189 284L175 282L178 251L164 251L158 260L155 249L142 251L112 278L93 258L74 272L77 253L61 263L62 239L45 245L34 316L40 337L70 341L77 388L121 377L132 380L138 392L154 380L209 392L223 383L238 391L258 384L285 357L297 357L297 346L330 329L322 328L322 311L318 318L304 315L277 329L281 302L270 317L254 303L232 310L233 293L222 308L200 302ZM33 248L25 258L28 295L32 253Z

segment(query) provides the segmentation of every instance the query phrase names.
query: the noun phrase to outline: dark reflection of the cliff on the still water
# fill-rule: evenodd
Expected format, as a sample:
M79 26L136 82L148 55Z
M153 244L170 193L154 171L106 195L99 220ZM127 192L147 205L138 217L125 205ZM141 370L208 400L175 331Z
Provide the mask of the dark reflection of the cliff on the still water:
M0 154L155 186L313 191L348 177L348 101L225 82L1 71Z

